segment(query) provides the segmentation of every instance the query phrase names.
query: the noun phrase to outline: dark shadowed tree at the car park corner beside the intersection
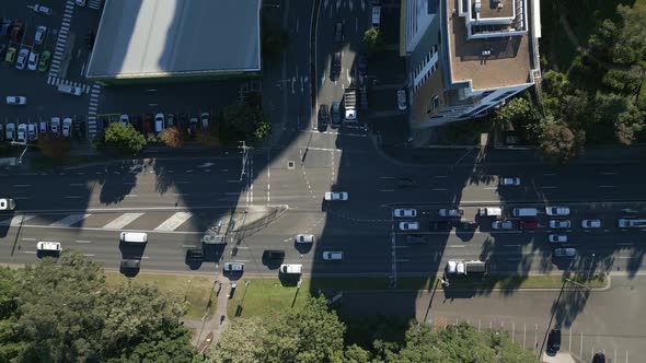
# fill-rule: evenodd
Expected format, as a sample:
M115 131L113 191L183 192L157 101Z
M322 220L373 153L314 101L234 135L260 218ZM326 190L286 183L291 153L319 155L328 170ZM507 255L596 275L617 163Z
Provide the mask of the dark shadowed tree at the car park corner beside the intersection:
M249 141L257 143L272 131L272 124L259 107L230 105L222 112L220 134L228 143Z

